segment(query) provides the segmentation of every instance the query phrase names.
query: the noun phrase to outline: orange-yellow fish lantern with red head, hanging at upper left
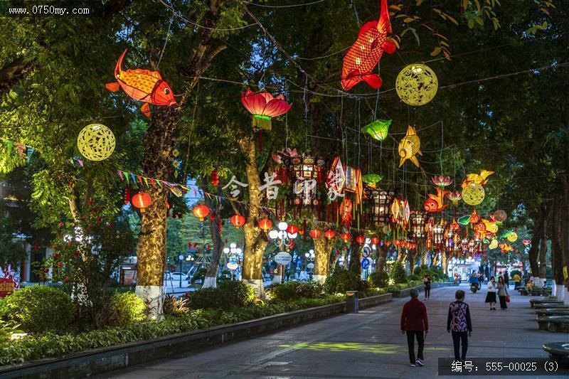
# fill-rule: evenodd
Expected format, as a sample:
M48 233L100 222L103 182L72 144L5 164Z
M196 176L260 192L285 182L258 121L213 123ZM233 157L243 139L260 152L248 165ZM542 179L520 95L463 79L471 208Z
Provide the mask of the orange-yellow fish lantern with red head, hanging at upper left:
M105 85L107 90L117 92L122 88L124 93L134 100L144 102L140 110L147 117L150 117L149 104L166 105L168 107L177 105L176 99L174 99L174 92L172 92L168 83L162 80L158 71L142 70L140 68L135 70L122 70L122 60L126 53L127 49L124 49L115 66L115 79L117 79L117 81L107 83Z

